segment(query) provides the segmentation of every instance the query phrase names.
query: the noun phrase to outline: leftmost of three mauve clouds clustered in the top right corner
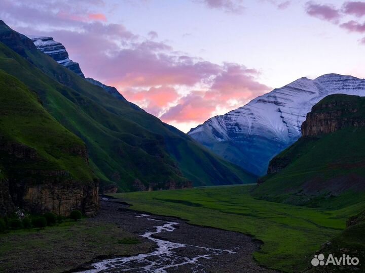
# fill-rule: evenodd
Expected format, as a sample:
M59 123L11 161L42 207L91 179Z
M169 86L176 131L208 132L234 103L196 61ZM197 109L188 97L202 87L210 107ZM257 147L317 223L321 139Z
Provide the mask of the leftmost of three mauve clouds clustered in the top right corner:
M333 5L321 5L321 4L316 4L312 1L307 2L306 12L310 16L330 21L336 24L339 22L341 18L339 10L337 10Z

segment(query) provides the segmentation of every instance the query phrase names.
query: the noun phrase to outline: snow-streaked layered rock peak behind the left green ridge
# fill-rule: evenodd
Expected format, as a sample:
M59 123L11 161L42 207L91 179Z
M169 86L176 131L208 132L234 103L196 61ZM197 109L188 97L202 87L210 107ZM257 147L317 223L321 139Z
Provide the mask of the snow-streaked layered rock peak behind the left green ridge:
M74 71L85 78L80 65L68 58L68 53L62 43L55 41L52 37L28 35L37 49L52 57L57 63Z

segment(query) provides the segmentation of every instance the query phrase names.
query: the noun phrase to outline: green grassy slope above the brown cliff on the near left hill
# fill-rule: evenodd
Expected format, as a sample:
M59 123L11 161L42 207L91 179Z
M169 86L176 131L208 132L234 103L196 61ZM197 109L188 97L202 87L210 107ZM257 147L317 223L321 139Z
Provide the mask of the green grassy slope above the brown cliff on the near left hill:
M72 178L87 183L95 177L86 158L85 144L59 124L16 78L0 70L0 148L3 177L26 170L66 170ZM9 148L8 146L11 146ZM16 160L16 146L31 149L33 160ZM10 151L11 150L11 151Z

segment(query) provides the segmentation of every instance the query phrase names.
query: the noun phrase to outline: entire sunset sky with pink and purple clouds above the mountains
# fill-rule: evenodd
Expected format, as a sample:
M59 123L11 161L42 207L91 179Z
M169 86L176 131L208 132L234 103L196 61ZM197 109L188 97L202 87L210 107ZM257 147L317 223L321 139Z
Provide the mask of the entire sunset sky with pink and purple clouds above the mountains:
M361 1L1 0L0 19L185 132L304 76L365 78Z

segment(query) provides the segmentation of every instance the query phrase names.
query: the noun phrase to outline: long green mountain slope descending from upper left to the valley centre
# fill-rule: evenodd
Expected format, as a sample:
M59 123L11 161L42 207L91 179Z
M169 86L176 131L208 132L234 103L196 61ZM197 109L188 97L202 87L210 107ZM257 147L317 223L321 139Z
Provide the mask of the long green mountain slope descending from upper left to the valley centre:
M45 109L86 143L103 191L255 180L187 134L58 64L2 21L0 42L0 69L35 92Z

